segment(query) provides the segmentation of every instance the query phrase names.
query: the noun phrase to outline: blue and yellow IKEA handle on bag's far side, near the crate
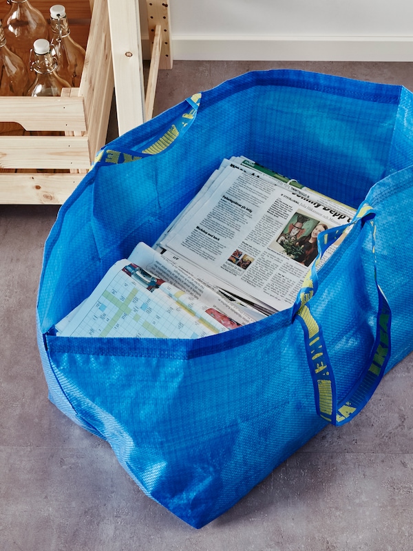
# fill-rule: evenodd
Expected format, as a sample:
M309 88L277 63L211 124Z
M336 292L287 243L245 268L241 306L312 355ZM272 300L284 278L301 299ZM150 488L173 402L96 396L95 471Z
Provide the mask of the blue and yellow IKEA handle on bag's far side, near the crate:
M175 143L178 136L182 136L187 132L193 121L195 121L201 97L202 94L198 93L187 98L185 101L187 101L188 105L186 105L184 113L171 123L167 132L160 132L154 138L140 144L138 146L139 149L127 149L126 147L118 146L112 149L110 144L109 147L103 147L96 155L93 167L131 163L132 161L164 152L165 149Z

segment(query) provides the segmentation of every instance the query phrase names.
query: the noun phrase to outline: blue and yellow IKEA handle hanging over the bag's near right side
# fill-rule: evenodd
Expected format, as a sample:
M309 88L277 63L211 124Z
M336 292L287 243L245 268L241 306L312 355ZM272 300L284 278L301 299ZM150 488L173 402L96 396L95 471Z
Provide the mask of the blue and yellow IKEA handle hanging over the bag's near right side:
M350 224L343 225L339 228L327 229L319 234L317 238L319 254L306 275L306 280L304 280L303 286L293 306L293 318L297 316L304 329L306 354L313 377L317 413L320 417L326 419L326 421L335 426L340 426L349 422L367 404L381 381L385 373L385 367L390 358L390 327L392 315L388 301L377 282L377 260L375 254L376 225L374 216L375 213L372 207L364 202L359 207ZM367 365L363 368L359 379L354 383L348 395L338 402L335 375L328 357L326 342L321 331L321 326L319 326L310 311L308 301L313 297L318 288L317 264L321 256L323 256L324 251L326 251L333 242L336 242L348 227L356 223L361 223L362 225L368 224L372 230L374 281L376 282L379 296L376 337Z

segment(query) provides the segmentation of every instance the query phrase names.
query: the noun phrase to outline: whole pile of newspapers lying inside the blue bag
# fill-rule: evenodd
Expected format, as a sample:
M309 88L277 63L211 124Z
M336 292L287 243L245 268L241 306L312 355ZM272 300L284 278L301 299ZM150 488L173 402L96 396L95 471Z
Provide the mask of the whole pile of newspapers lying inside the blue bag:
M252 160L224 159L156 244L116 262L56 335L199 338L260 320L292 306L317 235L354 212Z

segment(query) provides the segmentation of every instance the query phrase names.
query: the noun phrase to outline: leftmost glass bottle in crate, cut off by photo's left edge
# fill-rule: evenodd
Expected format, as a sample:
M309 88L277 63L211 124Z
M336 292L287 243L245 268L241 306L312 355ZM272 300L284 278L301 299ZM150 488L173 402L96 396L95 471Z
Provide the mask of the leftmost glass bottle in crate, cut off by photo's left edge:
M0 23L0 95L23 96L28 89L29 74L24 61L6 45Z

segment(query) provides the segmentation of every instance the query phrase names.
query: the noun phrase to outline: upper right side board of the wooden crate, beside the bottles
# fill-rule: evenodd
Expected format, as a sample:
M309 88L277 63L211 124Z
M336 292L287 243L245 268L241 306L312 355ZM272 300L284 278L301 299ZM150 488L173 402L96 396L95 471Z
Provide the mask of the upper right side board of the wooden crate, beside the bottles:
M79 87L84 98L91 161L105 145L114 89L109 14L106 0L94 0L85 67Z

